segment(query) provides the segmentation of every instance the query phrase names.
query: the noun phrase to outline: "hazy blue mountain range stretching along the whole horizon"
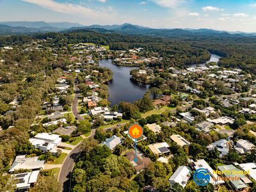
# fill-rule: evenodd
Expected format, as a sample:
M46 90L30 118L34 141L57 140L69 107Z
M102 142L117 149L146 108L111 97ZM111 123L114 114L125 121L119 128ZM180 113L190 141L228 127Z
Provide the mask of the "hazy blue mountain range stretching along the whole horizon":
M181 37L181 36L256 36L256 33L243 33L241 31L228 32L214 29L153 29L132 24L120 25L92 25L83 26L70 22L28 22L13 21L0 22L0 35L20 35L28 33L65 32L65 31L97 31L99 33L121 33L125 35L148 35L159 37Z

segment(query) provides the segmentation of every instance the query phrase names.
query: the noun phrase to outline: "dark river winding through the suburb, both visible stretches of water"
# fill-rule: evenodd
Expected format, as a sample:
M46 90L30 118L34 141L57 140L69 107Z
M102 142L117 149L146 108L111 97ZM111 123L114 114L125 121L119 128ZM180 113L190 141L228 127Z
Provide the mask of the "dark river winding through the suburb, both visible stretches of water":
M209 62L218 62L220 56L216 54L211 55ZM111 107L119 104L120 101L134 102L134 100L141 99L144 93L148 90L149 85L136 83L130 79L130 70L138 67L124 67L117 66L111 63L112 60L99 60L100 67L110 68L113 72L113 79L106 83L109 87L108 100L111 102ZM205 63L189 65L189 67L205 66Z

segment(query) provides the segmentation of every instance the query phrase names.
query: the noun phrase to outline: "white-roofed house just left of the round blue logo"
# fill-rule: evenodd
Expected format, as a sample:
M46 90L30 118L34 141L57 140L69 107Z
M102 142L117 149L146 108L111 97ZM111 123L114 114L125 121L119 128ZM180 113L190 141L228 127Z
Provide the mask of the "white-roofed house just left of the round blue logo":
M185 188L190 177L191 170L188 166L179 166L179 168L170 177L169 182L171 185L179 183L182 188Z

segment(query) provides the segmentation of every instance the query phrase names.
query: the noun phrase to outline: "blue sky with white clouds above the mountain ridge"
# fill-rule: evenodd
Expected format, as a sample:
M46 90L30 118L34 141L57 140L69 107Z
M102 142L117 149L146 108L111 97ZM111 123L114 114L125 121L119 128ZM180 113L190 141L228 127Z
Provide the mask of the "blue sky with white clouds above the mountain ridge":
M256 1L0 0L0 21L10 20L256 32Z

